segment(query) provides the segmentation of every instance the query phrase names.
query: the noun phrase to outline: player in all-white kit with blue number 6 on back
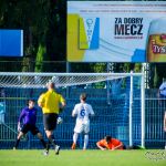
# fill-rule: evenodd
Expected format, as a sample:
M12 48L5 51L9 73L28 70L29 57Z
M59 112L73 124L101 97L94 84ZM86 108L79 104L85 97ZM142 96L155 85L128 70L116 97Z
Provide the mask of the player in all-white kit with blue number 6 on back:
M86 149L89 144L89 132L90 132L90 115L94 115L93 108L90 104L87 104L86 101L86 94L82 93L80 95L81 103L76 104L74 106L74 110L72 112L72 116L76 117L76 124L74 127L74 135L73 135L73 145L72 149L75 149L76 147L76 141L80 133L84 133L84 146L83 149Z

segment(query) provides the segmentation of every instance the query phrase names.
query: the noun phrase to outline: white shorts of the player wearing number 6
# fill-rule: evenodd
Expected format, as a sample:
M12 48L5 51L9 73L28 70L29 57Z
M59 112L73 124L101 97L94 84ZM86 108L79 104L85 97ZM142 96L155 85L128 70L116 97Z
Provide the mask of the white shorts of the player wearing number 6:
M86 123L86 124L76 123L74 127L74 132L87 134L90 132L90 123Z

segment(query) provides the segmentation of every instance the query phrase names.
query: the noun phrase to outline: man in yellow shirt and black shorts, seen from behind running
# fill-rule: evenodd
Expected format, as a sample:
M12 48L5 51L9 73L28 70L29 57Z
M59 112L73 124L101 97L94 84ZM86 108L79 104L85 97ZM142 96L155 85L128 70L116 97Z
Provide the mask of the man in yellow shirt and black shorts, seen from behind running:
M50 144L54 146L55 155L59 155L60 146L55 143L53 131L56 127L58 115L65 106L65 100L54 91L54 83L49 82L48 91L40 95L38 104L42 107L44 129L49 139L44 155L49 154Z

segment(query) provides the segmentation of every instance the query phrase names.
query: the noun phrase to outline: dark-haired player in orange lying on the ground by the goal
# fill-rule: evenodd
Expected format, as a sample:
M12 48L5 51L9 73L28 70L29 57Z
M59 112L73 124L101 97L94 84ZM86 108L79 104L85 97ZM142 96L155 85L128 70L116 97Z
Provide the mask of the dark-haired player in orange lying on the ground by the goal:
M96 143L96 146L102 149L124 149L124 145L121 141L112 138L112 136L107 135L104 139L101 139Z

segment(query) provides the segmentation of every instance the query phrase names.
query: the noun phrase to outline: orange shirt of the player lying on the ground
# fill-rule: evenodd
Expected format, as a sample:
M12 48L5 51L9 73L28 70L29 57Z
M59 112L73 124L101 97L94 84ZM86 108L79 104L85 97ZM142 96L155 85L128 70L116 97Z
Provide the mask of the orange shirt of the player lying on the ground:
M105 139L101 139L100 142L97 142L97 144L102 147L106 147L107 149L113 149L116 146L123 145L122 142L115 138L112 138L112 141L108 144ZM123 146L118 147L117 149L123 149Z

